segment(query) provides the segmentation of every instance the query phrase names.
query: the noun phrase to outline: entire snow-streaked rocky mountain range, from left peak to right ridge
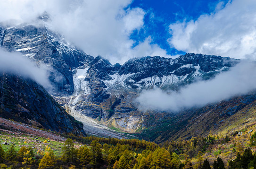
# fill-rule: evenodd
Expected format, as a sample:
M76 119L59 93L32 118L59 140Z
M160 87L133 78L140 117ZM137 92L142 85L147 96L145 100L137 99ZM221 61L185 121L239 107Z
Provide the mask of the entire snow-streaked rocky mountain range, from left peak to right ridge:
M176 59L147 56L112 65L100 56L85 54L42 25L0 27L0 46L21 52L47 69L56 87L52 95L71 115L86 115L128 132L144 125L145 113L134 102L142 90L178 90L212 78L238 62L189 53Z

